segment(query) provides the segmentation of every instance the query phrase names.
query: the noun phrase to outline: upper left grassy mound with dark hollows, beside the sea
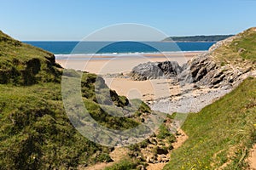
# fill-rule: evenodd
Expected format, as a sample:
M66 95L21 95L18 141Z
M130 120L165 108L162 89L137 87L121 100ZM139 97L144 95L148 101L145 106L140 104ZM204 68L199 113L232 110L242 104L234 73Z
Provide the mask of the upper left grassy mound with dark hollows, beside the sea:
M0 83L32 85L60 82L60 65L55 56L19 42L0 31Z

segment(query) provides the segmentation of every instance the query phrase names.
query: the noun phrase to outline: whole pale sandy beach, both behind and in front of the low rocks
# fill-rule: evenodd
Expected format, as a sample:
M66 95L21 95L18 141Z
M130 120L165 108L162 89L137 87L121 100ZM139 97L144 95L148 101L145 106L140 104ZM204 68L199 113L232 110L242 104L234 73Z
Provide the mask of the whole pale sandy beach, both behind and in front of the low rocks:
M189 59L193 58L198 52L194 53L168 53L168 54L143 54L132 56L131 58L110 59L106 56L96 56L102 59L57 59L64 68L72 68L80 71L88 71L99 75L106 75L108 73L128 73L131 69L139 64L151 61L177 61L179 65L183 65ZM79 56L81 57L81 56ZM88 56L87 56L88 57ZM109 56L108 56L109 57ZM85 66L84 66L85 65ZM171 80L159 79L150 81L132 81L128 78L104 78L108 87L115 90L119 95L124 95L129 99L143 99L143 101L152 101L155 99L162 99L170 97L170 94L178 94L180 89L173 87L170 89L169 82Z

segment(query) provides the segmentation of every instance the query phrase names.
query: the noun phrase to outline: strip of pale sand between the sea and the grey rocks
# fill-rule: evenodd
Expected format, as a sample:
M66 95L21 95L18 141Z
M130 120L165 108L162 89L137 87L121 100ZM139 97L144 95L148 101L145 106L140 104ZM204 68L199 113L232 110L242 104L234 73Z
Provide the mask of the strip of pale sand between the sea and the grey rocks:
M189 59L200 54L199 52L189 53L167 53L167 54L127 54L117 59L117 56L95 56L97 59L90 59L90 56L75 56L76 59L56 59L64 68L70 68L79 71L88 71L95 74L113 74L127 73L136 65L146 63L148 61L177 61L180 65L186 63ZM72 56L72 55L71 55ZM84 59L83 59L84 58Z

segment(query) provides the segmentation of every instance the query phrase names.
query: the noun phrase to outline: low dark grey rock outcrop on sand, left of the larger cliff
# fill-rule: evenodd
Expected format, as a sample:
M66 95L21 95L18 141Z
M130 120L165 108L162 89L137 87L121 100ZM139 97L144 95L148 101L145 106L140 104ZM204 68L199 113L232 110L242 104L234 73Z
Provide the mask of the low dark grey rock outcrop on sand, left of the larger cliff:
M148 62L137 65L131 71L131 79L137 81L177 77L182 68L177 61Z

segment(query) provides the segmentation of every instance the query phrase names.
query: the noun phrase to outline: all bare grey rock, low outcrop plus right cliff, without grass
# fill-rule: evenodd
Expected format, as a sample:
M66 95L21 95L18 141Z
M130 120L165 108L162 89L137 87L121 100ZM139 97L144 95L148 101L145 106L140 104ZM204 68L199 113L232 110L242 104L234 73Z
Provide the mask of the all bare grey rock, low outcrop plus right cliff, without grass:
M210 88L233 86L236 82L241 82L243 79L241 76L251 71L252 68L229 62L225 62L222 65L217 59L216 54L218 53L216 51L221 47L229 47L231 42L240 37L241 34L238 34L215 43L206 53L195 56L182 67L176 61L148 62L137 65L131 71L131 79L143 81L177 77L178 82L181 84L196 83ZM242 53L242 51L245 51L245 49L239 48L237 53ZM237 62L239 63L240 61Z

